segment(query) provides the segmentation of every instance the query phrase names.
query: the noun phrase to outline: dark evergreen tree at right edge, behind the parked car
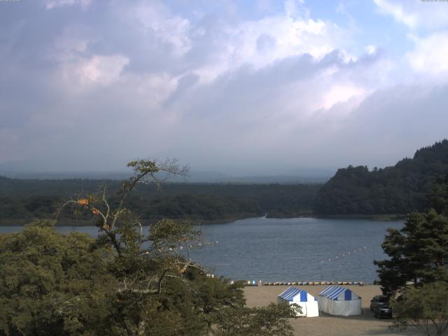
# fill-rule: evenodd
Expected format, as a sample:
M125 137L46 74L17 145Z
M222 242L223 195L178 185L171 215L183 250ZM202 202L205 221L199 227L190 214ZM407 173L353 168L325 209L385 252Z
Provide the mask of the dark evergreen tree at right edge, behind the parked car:
M412 213L400 230L388 229L383 244L388 260L379 267L381 289L392 296L407 283L448 281L448 184L438 180L428 193L431 209Z

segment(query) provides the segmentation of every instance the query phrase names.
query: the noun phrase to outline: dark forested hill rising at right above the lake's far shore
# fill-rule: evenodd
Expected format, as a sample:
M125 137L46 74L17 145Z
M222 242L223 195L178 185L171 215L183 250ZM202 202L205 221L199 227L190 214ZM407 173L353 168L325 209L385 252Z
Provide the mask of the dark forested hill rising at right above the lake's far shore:
M339 169L318 191L314 213L322 215L407 214L426 207L426 193L448 174L448 140L421 148L393 167Z

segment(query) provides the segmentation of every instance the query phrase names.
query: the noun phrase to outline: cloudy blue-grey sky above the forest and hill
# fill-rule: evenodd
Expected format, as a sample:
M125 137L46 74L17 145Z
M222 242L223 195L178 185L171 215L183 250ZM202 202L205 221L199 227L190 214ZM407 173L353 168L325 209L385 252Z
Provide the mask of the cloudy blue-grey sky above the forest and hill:
M448 137L447 18L428 0L0 0L0 167L394 165Z

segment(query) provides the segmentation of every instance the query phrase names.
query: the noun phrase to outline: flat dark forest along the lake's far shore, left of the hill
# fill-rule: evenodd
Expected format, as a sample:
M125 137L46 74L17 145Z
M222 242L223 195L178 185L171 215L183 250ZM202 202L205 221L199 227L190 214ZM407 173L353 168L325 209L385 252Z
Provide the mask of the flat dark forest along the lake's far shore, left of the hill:
M121 184L112 180L21 180L0 177L1 223L48 218L66 200L97 193L106 186L113 195ZM311 214L320 185L164 183L141 185L127 200L128 207L147 221L188 218L206 223L268 214L272 217ZM66 214L66 219L82 220Z

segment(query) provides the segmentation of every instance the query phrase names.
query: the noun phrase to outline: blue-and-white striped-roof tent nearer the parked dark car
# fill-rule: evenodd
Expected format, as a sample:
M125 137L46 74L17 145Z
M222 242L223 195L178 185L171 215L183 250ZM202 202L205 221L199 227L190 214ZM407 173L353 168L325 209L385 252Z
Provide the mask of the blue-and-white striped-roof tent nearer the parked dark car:
M349 288L328 286L319 293L318 306L320 311L330 315L360 315L361 297Z

